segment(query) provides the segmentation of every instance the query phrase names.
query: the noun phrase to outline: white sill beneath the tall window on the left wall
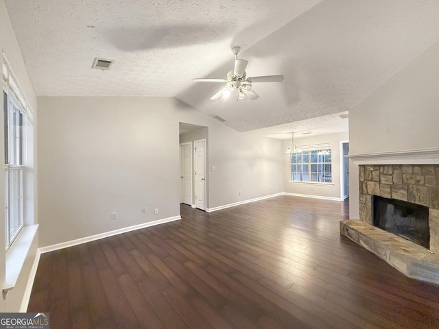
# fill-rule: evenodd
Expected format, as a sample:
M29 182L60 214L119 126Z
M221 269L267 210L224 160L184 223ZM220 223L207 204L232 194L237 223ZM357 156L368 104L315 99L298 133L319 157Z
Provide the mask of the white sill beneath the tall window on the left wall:
M6 273L5 287L3 287L3 300L8 291L15 287L16 281L19 279L21 269L25 264L27 254L34 241L38 224L25 226L12 243L8 252L6 252Z

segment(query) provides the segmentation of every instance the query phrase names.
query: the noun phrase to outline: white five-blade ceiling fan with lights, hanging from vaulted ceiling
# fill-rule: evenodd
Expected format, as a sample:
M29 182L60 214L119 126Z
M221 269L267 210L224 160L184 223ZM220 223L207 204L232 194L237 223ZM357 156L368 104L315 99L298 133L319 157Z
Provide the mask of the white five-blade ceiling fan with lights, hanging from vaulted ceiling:
M254 82L283 82L283 75L265 75L262 77L247 77L247 60L238 59L240 47L233 47L232 53L235 55L235 66L232 71L227 73L227 79L193 79L193 82L222 82L226 86L213 95L211 99L218 99L221 96L228 98L233 90L236 90L238 99L250 98L252 101L259 95L252 90Z

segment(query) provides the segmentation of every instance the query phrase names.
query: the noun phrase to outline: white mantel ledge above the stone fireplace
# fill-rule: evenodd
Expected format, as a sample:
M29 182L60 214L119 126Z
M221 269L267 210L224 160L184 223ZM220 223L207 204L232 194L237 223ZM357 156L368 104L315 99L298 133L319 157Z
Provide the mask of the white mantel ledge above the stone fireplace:
M439 164L439 147L382 153L349 154L353 164Z

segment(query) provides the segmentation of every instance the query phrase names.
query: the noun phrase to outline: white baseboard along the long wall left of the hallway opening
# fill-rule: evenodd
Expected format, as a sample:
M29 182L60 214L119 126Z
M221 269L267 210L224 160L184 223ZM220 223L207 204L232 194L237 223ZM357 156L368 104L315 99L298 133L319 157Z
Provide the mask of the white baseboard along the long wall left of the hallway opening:
M91 242L91 241L95 241L95 240L99 240L99 239L104 239L104 238L107 238L108 236L113 236L116 234L139 230L141 228L148 228L150 226L168 223L169 221L178 221L179 219L181 219L180 215L165 218L165 219L158 219L158 221L148 221L147 223L141 223L139 225L128 226L128 228L119 228L119 230L114 230L114 231L104 232L101 234L86 236L84 238L58 243L56 245L48 245L47 247L40 247L40 248L38 248L38 252L40 252L40 254L44 254L45 252L53 252L54 250L63 249L63 248L67 248L67 247L73 247L73 245L80 245L81 243L87 243L87 242Z

